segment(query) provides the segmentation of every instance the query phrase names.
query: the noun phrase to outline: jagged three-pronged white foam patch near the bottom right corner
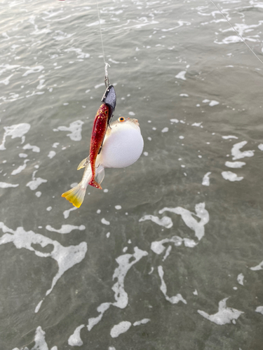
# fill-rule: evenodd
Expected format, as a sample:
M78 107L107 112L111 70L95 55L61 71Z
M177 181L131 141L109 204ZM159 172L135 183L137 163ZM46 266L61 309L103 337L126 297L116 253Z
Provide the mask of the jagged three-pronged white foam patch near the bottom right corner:
M227 323L231 323L231 321L233 323L236 323L236 319L238 319L238 317L243 314L243 311L227 307L227 299L228 297L225 297L219 302L218 312L216 314L209 315L205 311L201 310L197 310L197 312L204 318L216 323L217 325L225 325Z

